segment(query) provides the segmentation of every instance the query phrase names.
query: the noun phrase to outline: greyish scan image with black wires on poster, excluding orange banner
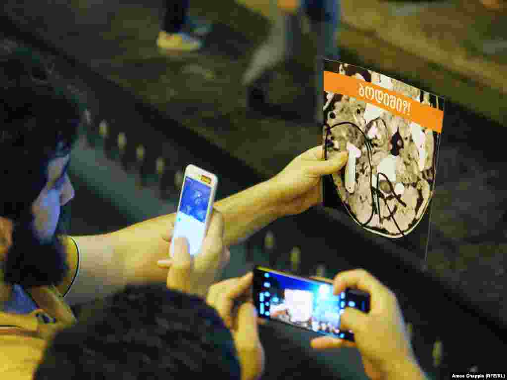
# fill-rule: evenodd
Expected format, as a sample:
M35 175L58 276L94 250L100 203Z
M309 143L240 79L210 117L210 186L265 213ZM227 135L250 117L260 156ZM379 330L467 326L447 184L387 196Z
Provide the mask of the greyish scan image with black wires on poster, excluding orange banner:
M371 74L372 83L427 102L429 94ZM360 99L332 92L324 96L326 158L349 153L345 167L332 175L342 204L354 221L375 234L409 234L431 199L438 133Z

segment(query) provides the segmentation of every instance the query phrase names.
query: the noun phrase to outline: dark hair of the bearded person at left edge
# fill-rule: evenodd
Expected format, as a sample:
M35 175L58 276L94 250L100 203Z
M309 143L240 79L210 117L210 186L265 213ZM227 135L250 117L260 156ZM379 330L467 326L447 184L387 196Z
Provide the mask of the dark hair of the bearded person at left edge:
M16 220L29 209L48 181L48 164L70 153L85 108L40 54L22 46L3 49L0 216Z

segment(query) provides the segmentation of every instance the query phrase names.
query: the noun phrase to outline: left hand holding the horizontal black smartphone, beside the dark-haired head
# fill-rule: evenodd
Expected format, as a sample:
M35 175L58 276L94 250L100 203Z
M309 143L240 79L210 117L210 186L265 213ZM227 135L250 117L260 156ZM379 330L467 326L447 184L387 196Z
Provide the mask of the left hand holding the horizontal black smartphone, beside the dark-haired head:
M241 380L257 380L264 372L265 354L259 338L257 310L251 302L253 274L213 284L206 302L231 330L241 364ZM244 300L235 307L238 301ZM249 301L250 300L250 301Z

